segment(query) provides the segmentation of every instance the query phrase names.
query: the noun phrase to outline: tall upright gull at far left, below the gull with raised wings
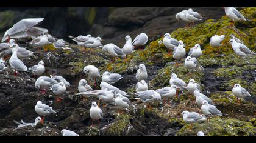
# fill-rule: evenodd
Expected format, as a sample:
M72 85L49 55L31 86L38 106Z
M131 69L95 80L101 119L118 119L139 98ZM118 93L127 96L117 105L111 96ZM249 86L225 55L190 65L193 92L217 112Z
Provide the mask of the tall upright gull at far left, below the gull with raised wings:
M27 66L24 65L24 63L17 57L17 49L16 48L12 49L12 56L11 56L9 62L10 62L10 66L13 69L15 69L15 76L19 75L18 71L27 71ZM16 73L16 71L17 71L17 73Z

